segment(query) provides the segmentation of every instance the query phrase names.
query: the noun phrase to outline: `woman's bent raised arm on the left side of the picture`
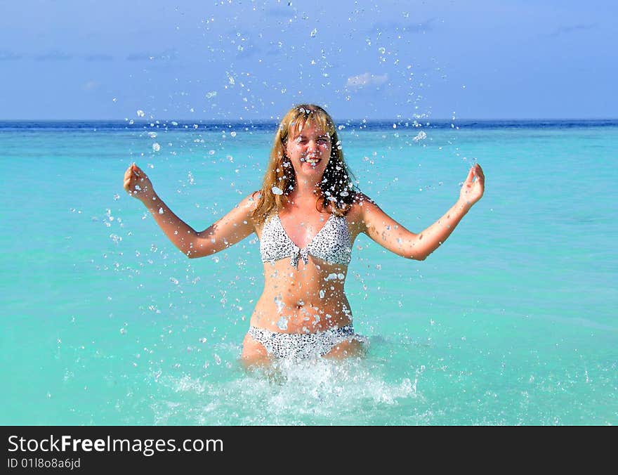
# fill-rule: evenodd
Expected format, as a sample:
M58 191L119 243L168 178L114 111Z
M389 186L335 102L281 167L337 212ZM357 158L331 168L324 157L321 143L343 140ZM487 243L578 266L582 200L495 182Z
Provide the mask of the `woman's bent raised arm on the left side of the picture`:
M235 245L255 231L251 211L256 201L251 195L209 228L196 231L178 218L157 196L150 178L136 164L132 164L124 174L124 189L129 195L143 202L173 245L190 258L215 254Z

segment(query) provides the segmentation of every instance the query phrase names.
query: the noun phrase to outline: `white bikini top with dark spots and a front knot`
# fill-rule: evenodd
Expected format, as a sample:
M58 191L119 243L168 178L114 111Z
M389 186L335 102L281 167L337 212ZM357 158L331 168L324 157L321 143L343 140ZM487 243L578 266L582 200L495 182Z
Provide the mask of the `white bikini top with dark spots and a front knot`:
M285 232L279 214L275 213L264 224L260 241L262 262L275 262L289 257L291 265L298 268L298 259L309 262L309 255L327 263L348 265L352 259L350 231L346 218L331 214L309 244L302 249L292 242Z

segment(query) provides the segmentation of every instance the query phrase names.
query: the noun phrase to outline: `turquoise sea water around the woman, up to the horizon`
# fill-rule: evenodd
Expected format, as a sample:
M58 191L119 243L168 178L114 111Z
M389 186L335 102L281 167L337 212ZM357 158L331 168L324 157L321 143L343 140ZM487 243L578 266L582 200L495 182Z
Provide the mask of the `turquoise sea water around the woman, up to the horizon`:
M122 189L137 162L195 228L258 189L272 126L188 125L0 124L1 424L618 423L618 122L348 124L360 188L409 229L475 160L485 197L426 261L360 237L367 357L275 376L238 362L255 236L189 261Z

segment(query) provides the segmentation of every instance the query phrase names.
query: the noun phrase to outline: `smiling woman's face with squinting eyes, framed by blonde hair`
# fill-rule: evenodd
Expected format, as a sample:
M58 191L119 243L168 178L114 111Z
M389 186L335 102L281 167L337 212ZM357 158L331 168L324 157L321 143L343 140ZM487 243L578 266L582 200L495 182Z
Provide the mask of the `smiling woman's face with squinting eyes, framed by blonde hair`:
M331 157L331 138L322 129L305 125L296 135L290 133L285 144L285 154L296 172L296 179L317 184L322 181L324 170Z

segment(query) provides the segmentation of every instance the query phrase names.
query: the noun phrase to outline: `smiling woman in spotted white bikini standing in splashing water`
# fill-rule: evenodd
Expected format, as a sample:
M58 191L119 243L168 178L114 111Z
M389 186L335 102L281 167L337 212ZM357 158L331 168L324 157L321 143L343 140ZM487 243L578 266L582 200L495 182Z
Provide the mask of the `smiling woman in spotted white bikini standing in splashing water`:
M256 233L264 291L244 337L246 365L277 358L342 358L363 350L343 284L353 242L365 233L379 245L422 261L444 242L485 188L478 164L459 200L419 234L394 221L355 190L336 126L317 105L298 105L275 134L261 191L252 193L206 230L197 232L157 196L146 174L131 165L124 188L190 258L209 256Z

